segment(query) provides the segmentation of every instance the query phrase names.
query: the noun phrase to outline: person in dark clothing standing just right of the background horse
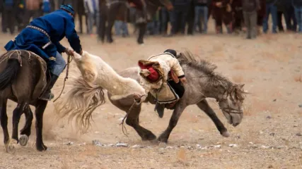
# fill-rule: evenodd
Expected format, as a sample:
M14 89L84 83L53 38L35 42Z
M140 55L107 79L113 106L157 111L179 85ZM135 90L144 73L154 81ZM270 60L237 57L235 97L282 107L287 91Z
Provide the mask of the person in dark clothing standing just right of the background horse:
M171 2L174 9L171 11L170 15L170 22L172 25L170 36L175 35L178 32L185 34L185 23L190 0L171 0Z

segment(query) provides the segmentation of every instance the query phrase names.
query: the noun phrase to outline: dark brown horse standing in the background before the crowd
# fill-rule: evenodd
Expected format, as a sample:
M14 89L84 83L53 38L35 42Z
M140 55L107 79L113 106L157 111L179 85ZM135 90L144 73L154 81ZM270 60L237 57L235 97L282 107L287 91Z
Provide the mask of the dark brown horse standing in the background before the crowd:
M100 27L98 30L98 37L102 42L105 41L105 35L107 36L107 42L113 42L112 26L114 25L115 20L122 20L130 23L131 21L129 18L136 18L136 26L139 28L137 42L139 44L144 44L147 22L153 18L158 7L163 4L168 9L173 8L170 0L129 0L129 2L132 2L136 6L134 17L129 16L127 0L100 0Z

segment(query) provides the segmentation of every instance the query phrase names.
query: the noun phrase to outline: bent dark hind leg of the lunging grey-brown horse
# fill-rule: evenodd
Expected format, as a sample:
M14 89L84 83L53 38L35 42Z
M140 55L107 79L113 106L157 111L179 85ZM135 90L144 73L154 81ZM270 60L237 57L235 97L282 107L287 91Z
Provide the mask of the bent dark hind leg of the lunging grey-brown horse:
M141 113L141 105L133 106L126 120L127 125L132 126L143 141L156 139L156 135L139 125L139 113Z

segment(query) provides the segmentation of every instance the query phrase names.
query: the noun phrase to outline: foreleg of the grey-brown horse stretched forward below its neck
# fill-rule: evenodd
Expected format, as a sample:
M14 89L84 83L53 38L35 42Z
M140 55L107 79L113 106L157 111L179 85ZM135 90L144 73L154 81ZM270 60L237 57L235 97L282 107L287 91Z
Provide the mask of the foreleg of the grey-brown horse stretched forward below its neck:
M228 134L228 130L226 129L226 127L224 127L224 125L221 123L221 121L219 120L219 118L217 117L216 113L213 111L213 109L209 106L208 102L206 99L203 99L202 101L200 101L197 106L202 109L202 111L204 111L204 113L206 113L209 118L211 118L211 120L214 122L214 124L216 125L217 130L219 130L220 134L223 137L229 137L230 134Z

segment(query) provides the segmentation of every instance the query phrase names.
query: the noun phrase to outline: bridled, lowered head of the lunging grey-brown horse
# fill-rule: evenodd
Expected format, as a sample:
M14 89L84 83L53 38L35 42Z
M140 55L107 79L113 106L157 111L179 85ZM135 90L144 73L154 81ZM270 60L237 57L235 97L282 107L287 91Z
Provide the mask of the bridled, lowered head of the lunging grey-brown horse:
M234 84L231 89L222 89L223 92L219 102L219 107L223 112L223 115L228 120L228 123L237 126L241 123L243 118L243 100L245 93L243 90L244 84Z

